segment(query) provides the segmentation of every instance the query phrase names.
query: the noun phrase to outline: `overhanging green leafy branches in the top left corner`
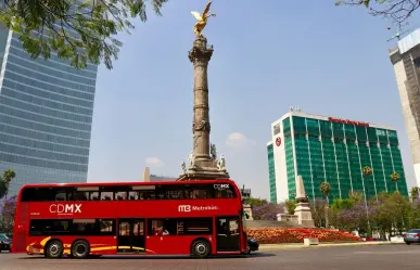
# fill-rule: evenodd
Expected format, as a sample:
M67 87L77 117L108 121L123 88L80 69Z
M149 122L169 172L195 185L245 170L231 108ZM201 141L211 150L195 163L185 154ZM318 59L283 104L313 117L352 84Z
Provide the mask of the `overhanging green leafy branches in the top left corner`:
M133 28L130 18L148 20L167 0L4 0L0 23L20 35L23 48L33 59L49 59L51 52L69 60L77 68L87 62L104 62L111 69L122 42L118 33Z

